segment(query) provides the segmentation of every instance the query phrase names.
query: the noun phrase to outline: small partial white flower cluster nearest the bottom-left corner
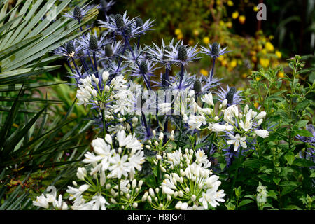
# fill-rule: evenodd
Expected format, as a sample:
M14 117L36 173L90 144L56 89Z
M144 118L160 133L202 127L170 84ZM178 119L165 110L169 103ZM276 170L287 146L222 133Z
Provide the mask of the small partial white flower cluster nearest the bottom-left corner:
M51 192L48 194L42 194L41 196L37 196L36 200L33 201L33 205L48 209L51 203L54 209L58 209L58 210L68 209L66 202L62 202L62 195L59 195L58 200L56 199L57 191L56 191L55 186L48 186L47 191L50 191L50 190Z

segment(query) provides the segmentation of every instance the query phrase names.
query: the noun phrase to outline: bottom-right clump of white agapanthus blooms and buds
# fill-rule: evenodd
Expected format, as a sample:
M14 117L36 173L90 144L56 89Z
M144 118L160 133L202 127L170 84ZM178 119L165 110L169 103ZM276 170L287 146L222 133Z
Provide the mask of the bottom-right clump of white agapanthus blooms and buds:
M186 148L174 153L167 153L169 174L165 174L160 188L150 189L142 197L143 201L151 204L155 209L167 209L175 200L175 209L208 209L224 202L225 193L218 190L221 181L212 175L211 162L204 151L193 151Z

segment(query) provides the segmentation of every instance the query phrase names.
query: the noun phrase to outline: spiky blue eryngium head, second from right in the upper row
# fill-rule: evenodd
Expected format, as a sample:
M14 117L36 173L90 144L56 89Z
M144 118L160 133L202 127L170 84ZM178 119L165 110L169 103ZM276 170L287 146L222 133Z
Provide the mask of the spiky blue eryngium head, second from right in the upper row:
M188 47L188 45L183 45L183 41L179 41L175 45L170 44L169 48L171 50L165 50L165 56L169 58L168 61L172 64L185 66L188 62L200 59L200 57L197 57L197 44L193 47Z

